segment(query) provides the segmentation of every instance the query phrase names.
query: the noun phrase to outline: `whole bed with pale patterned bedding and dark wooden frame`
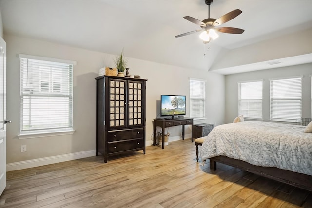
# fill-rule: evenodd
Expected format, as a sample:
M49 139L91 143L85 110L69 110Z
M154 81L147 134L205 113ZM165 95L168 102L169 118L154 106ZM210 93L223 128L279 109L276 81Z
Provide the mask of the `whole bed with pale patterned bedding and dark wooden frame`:
M244 121L216 126L200 155L295 187L312 191L312 134L305 126Z

